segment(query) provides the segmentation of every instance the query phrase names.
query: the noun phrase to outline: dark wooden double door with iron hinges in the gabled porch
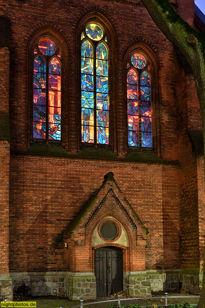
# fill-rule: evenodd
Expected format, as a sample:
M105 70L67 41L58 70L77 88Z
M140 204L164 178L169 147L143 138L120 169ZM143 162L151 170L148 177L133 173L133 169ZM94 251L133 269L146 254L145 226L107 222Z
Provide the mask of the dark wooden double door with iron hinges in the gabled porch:
M123 290L122 249L101 247L94 251L97 296L109 296Z

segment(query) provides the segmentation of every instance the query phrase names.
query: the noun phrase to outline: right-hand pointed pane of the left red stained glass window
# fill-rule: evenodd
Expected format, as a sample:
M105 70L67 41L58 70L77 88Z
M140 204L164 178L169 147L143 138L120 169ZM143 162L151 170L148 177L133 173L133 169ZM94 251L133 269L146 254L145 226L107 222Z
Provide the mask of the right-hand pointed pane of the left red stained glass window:
M49 62L49 93L48 93L48 138L60 140L61 117L61 76L60 63L56 58Z

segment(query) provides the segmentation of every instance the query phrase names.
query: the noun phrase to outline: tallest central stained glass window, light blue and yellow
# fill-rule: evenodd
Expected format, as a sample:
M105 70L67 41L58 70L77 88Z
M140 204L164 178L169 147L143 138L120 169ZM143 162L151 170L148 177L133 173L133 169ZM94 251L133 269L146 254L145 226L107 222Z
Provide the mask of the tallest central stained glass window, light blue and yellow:
M92 23L81 35L82 142L109 144L108 48L105 31Z

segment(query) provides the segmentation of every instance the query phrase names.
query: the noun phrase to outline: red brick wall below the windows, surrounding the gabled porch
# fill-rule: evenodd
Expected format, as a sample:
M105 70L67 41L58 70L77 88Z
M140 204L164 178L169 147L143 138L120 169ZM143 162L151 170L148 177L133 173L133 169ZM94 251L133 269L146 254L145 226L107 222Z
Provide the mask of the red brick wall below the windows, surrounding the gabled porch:
M109 171L149 230L147 268L179 268L177 166L12 156L11 271L67 269L64 233Z

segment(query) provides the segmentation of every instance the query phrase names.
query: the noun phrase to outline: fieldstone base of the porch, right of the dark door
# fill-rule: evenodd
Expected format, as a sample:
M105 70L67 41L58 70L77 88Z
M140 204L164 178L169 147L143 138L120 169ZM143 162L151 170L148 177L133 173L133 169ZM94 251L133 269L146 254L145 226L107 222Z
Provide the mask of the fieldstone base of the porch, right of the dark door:
M124 291L136 296L151 296L149 275L146 272L124 272Z

